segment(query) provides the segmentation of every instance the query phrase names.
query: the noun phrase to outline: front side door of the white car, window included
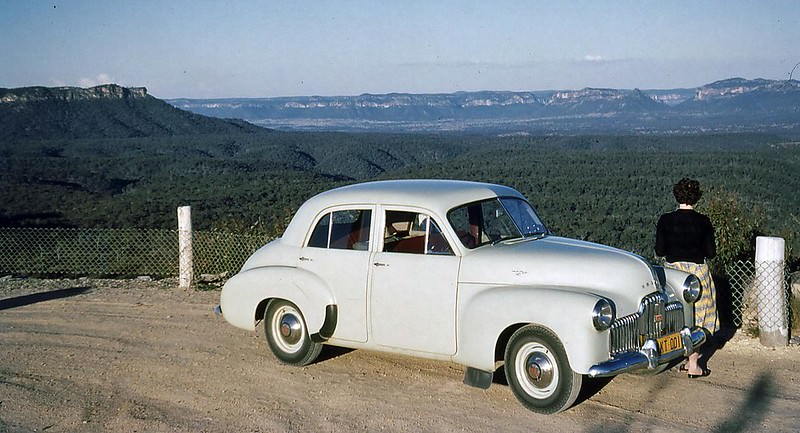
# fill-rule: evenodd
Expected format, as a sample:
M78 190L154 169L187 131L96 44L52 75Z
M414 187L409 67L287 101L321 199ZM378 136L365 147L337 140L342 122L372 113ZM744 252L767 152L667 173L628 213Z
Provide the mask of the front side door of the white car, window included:
M454 354L460 258L425 212L388 209L382 216L384 239L371 263L372 342Z

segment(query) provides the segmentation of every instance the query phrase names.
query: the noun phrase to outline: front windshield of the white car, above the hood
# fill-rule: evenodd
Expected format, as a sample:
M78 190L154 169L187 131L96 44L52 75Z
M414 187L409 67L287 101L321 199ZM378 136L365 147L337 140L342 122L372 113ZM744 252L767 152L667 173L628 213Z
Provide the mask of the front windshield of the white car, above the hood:
M516 197L468 203L448 212L447 219L467 248L548 233L531 205Z

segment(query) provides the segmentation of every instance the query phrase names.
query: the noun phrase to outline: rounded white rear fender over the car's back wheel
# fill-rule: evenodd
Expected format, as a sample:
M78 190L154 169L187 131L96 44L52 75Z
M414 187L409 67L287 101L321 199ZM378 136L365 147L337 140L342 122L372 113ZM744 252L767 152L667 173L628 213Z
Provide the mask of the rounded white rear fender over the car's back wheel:
M313 273L291 266L263 266L242 271L225 283L220 294L222 315L231 325L252 331L261 320L256 317L258 305L271 298L295 304L309 334L322 328L326 307L336 304L333 292Z

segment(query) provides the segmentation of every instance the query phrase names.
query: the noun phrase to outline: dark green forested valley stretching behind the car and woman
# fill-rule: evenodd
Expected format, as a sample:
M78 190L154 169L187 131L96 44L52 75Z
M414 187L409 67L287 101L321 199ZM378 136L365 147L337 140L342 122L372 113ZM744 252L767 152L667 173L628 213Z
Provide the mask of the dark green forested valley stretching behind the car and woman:
M772 135L488 136L263 132L0 144L0 226L174 228L280 235L310 196L373 179L501 183L559 235L652 258L672 185L700 180L721 259L755 235L797 268L800 142Z

